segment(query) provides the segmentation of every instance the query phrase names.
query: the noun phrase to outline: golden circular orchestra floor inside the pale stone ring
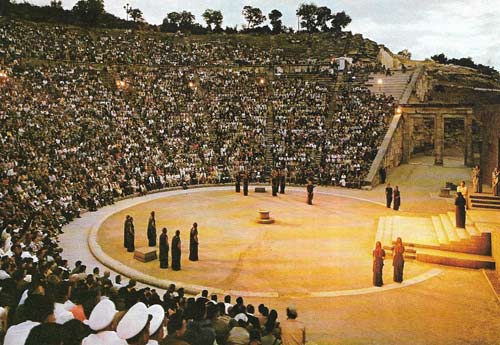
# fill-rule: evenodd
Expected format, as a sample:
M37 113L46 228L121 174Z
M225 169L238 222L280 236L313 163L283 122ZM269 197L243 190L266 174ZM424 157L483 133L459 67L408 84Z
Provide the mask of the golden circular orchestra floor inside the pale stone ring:
M268 188L269 189L269 188ZM269 210L274 224L259 224L259 210ZM159 268L159 261L142 263L123 248L123 222L134 217L135 246L147 246L151 211L157 233L167 227L171 241L181 231L182 270ZM196 190L168 195L121 210L101 225L101 249L120 263L147 275L247 295L297 296L315 292L372 287L371 251L378 217L394 214L384 205L356 198L317 193L314 205L305 191L294 188L272 197L250 191ZM189 230L198 223L200 260L191 262ZM171 259L171 258L169 258ZM408 262L405 279L429 266ZM384 280L392 283L386 260Z

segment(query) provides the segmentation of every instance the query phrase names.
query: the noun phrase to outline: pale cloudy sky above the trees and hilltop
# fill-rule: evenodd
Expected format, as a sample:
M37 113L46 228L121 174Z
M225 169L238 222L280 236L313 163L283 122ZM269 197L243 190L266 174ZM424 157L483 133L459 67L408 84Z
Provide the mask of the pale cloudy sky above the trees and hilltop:
M77 0L62 0L71 9ZM29 0L47 5L50 0ZM221 10L223 26L241 26L245 5L259 7L267 14L283 13L283 22L297 28L297 0L104 0L106 10L125 18L123 6L129 3L144 13L147 22L161 24L168 12L191 11L203 23L206 8ZM393 52L408 49L412 58L423 60L444 53L448 57L471 57L475 62L500 70L500 0L329 0L312 1L332 11L346 11L352 18L347 27L362 33ZM204 23L203 23L204 24Z

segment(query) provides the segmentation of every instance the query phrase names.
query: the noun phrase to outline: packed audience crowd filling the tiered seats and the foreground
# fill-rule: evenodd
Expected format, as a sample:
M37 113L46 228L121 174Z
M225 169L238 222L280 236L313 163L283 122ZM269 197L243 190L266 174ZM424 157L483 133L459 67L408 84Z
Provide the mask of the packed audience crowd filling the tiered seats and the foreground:
M346 85L329 109L329 90L317 81L268 80L222 67L269 59L244 45L0 26L0 61L9 76L0 85L5 344L38 344L44 334L58 334L55 344L80 344L103 330L116 334L100 336L121 337L117 344L138 334L161 338L157 314L167 324L162 336L187 344L287 344L293 327L284 325L296 317L294 307L278 322L276 311L259 306L257 314L240 299L233 306L229 297L225 303L216 296L186 298L175 287L159 296L133 281L112 283L109 273L87 274L82 264L69 268L58 245L63 225L84 210L166 187L230 182L242 171L254 182L284 167L292 183L314 176L323 184L359 186L386 131L392 99ZM160 67L168 64L177 67ZM154 312L155 305L163 312ZM120 331L123 314L143 315L144 308L153 308L153 319L146 312L139 333ZM109 314L109 324L96 325ZM54 316L56 323L48 322ZM157 328L146 332L146 324ZM83 344L98 344L92 339Z

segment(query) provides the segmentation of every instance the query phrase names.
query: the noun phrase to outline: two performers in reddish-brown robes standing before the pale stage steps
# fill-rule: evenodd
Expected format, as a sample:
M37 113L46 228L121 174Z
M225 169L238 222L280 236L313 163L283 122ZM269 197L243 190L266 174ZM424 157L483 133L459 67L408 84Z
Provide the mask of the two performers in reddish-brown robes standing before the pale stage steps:
M404 269L404 252L405 247L401 237L398 237L396 244L392 248L392 266L394 268L393 280L396 283L403 282ZM382 248L382 243L377 241L373 250L373 285L384 285L382 269L384 268L385 250Z

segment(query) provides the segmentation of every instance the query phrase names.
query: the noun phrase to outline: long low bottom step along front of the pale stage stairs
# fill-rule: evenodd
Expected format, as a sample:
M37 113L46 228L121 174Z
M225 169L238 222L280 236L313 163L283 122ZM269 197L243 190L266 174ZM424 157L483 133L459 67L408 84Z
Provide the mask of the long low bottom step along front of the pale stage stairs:
M495 260L488 255L467 254L435 249L418 249L417 260L422 262L465 267L465 268L495 268Z

